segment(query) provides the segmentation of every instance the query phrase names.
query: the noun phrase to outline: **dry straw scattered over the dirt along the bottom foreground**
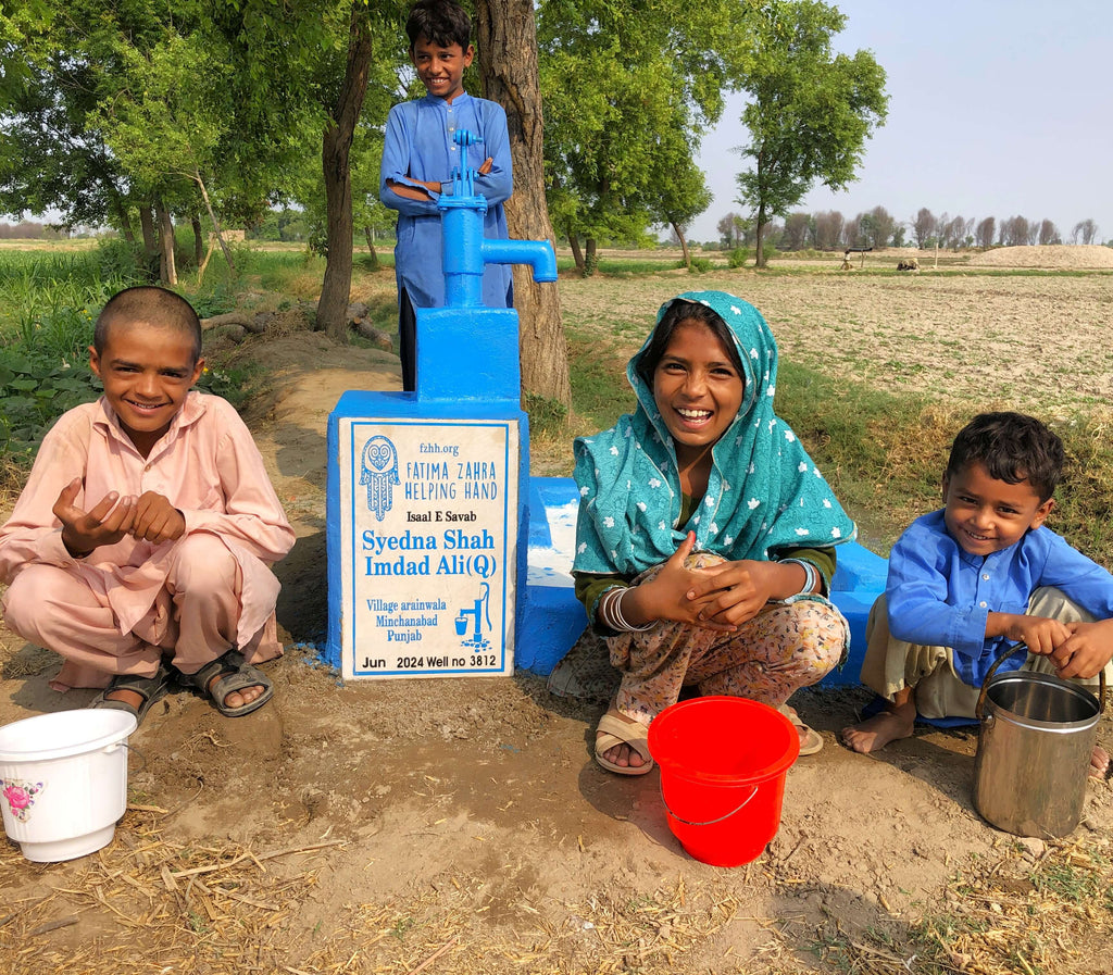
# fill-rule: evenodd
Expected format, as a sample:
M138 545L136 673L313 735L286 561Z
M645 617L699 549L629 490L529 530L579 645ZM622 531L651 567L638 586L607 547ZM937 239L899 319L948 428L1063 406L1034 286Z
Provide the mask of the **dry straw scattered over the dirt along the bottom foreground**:
M0 885L33 879L48 892L4 905L0 972L756 975L814 971L818 956L825 968L858 975L1035 975L1096 971L1094 959L1113 937L1105 837L1030 840L1023 857L1016 840L1002 839L999 856L981 871L955 874L940 909L910 937L850 932L836 915L810 932L791 918L741 918L722 874L699 884L678 876L650 896L611 892L582 903L546 904L519 892L490 925L480 923L492 919L484 918L490 878L445 873L425 890L345 905L306 930L305 917L325 893L318 873L345 855L343 840L275 850L184 846L164 836L159 824L168 815L130 806L117 839L72 864L31 865L11 845L0 850ZM760 864L747 868L751 874L762 875ZM791 889L794 878L777 882ZM96 936L67 940L67 929L90 917ZM716 936L742 920L762 943L747 959L716 955ZM800 955L801 943L811 952Z

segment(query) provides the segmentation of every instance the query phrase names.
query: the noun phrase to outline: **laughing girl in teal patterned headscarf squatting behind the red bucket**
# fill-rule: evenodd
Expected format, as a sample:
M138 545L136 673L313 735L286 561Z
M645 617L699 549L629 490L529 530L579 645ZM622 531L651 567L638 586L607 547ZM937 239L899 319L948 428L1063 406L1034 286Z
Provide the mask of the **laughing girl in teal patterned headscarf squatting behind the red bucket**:
M577 594L592 632L558 664L558 693L617 692L595 758L652 767L650 722L687 686L780 707L801 754L823 747L785 702L841 657L847 624L826 593L854 522L774 413L777 346L723 292L666 303L627 367L638 408L575 442ZM617 674L615 674L617 670Z

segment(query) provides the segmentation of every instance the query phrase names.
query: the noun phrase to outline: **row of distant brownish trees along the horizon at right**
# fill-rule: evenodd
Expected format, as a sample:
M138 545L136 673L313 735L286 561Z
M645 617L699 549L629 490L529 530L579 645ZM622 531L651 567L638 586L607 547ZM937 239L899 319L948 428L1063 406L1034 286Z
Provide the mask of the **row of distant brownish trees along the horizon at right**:
M719 220L719 243L726 248L748 247L756 242L754 219L729 213ZM1100 244L1097 224L1080 220L1070 235L1071 244ZM1066 243L1048 219L1028 220L1014 216L1004 220L978 220L944 213L936 216L927 207L907 221L897 220L885 207L874 207L848 220L838 210L814 214L790 213L782 223L772 223L766 239L778 250L840 250L846 247L1016 247L1026 244Z

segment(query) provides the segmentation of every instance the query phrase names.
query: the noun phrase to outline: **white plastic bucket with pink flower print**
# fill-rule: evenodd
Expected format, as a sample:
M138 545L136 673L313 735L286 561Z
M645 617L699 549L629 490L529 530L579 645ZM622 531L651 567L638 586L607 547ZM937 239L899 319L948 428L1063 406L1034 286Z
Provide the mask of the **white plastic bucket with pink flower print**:
M112 840L128 801L135 715L83 708L0 728L3 828L36 863L70 860Z

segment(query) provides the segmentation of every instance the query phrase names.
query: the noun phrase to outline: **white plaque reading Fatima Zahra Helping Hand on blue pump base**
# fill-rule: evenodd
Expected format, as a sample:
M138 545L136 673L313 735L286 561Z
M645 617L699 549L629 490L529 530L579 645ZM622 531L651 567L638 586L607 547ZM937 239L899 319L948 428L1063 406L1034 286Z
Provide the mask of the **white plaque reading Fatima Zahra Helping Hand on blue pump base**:
M513 672L519 429L339 421L347 679Z

